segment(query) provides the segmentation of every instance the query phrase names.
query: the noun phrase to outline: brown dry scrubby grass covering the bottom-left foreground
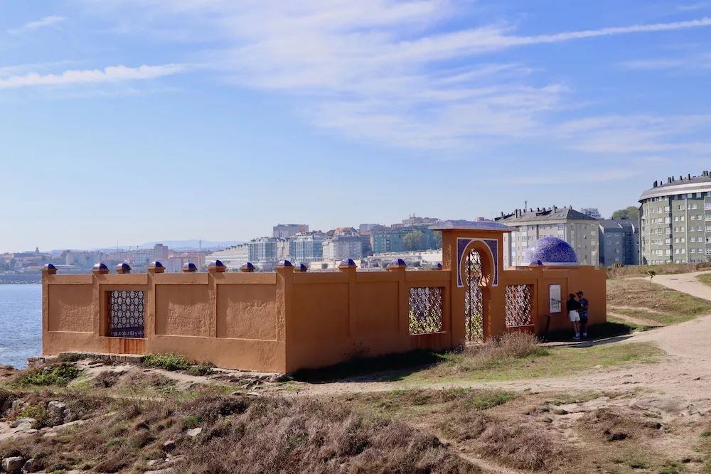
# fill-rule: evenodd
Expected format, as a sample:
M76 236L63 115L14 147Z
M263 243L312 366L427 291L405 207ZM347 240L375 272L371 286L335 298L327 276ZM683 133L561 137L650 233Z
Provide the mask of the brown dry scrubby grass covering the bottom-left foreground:
M477 473L439 440L397 421L311 399L201 397L153 402L66 394L18 394L33 404L60 399L85 407L82 426L0 443L33 470L139 473L148 460L176 456L183 473ZM87 413L86 410L90 413ZM188 428L202 432L191 438ZM160 464L160 463L159 463Z

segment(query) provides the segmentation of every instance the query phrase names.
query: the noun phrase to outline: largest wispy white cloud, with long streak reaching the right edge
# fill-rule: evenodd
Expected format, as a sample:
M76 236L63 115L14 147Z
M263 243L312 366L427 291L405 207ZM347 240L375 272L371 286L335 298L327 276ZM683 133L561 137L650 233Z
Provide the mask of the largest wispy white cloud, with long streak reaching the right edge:
M156 31L159 41L199 45L192 62L210 63L237 87L282 95L320 129L470 156L511 139L557 139L557 115L579 107L570 83L492 53L711 26L698 18L523 36L503 22L452 28L467 13L468 2L455 0L82 1L124 35ZM598 133L579 136L592 149Z

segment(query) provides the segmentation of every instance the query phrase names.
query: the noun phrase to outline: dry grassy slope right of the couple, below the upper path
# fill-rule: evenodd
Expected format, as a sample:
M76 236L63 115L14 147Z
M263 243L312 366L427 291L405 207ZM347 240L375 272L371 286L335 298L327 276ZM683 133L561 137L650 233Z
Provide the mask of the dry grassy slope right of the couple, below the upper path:
M711 302L705 299L642 280L608 280L607 303L616 313L661 324L681 323L711 314Z

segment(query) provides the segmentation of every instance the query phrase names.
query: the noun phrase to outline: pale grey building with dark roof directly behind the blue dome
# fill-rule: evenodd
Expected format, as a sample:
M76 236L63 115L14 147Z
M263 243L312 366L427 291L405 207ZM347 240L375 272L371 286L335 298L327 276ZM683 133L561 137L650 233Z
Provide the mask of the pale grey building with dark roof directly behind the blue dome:
M528 266L523 261L523 252L536 240L552 236L565 240L575 250L578 263L597 265L598 222L572 208L552 208L520 210L497 217L496 222L513 227L510 235L503 235L503 266Z

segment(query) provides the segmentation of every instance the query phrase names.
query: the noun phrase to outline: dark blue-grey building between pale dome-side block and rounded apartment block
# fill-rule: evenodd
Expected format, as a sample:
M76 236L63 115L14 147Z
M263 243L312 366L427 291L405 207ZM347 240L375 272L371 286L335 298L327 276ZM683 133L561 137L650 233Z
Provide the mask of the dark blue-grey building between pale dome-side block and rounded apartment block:
M639 264L639 226L636 220L601 220L600 265Z

